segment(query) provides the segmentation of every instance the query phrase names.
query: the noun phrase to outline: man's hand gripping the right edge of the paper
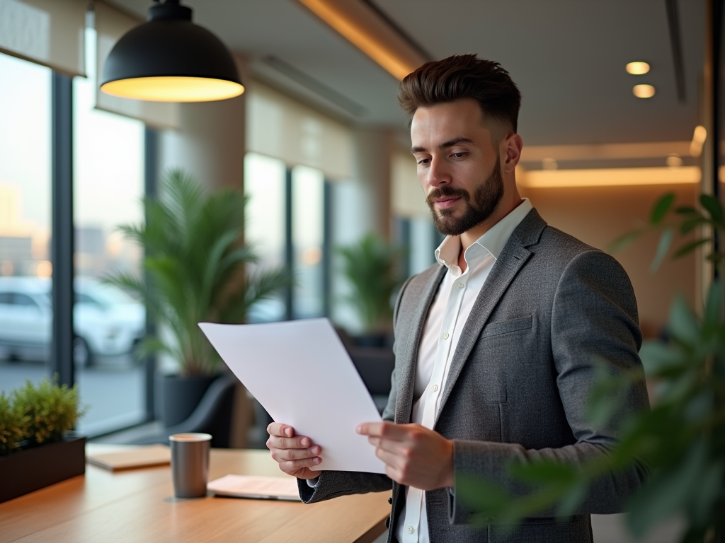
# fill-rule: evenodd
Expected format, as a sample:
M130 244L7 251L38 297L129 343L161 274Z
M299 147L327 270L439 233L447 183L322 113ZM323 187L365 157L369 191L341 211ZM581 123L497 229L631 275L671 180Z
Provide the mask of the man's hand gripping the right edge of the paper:
M453 487L453 442L420 424L366 422L357 433L368 436L390 479L421 490Z

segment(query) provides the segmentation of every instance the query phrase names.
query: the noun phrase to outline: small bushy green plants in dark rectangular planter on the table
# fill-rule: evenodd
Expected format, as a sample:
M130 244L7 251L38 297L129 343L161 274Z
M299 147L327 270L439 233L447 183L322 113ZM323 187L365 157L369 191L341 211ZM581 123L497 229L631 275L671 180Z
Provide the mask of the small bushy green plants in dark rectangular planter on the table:
M70 434L84 413L57 377L0 392L0 503L86 473L86 438Z

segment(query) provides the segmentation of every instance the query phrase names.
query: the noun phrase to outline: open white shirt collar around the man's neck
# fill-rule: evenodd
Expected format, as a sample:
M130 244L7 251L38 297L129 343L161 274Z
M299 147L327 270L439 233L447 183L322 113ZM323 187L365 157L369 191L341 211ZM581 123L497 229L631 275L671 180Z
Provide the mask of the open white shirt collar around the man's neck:
M523 218L529 214L533 207L529 198L523 198L521 203L506 215L499 222L494 224L488 232L474 241L471 247L465 251L465 261L469 266L476 266L477 261L484 256L491 255L498 260L503 251L504 246L508 242L516 227L523 221ZM483 249L483 251L481 251ZM446 236L438 248L436 249L436 261L443 264L448 269L458 265L458 255L460 253L460 236Z

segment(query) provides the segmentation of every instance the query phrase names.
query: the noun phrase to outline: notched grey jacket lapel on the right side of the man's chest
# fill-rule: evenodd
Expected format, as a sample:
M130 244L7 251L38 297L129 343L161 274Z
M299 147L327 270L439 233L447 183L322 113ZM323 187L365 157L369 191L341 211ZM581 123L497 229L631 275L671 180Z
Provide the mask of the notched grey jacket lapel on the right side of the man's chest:
M514 277L516 277L516 274L518 274L518 271L531 257L531 251L526 247L538 242L544 227L546 227L546 222L539 216L537 211L535 209L529 211L529 214L514 230L503 251L501 251L499 258L489 273L489 277L486 277L486 282L481 287L476 302L473 303L471 314L468 316L468 320L465 321L460 340L458 340L455 353L453 353L450 370L441 396L441 403L436 413L436 423L451 395L453 387L455 387L465 362L468 360L468 356L471 354L471 350L473 350L473 345L476 345L476 341L479 340L479 334L481 334L486 321L488 321L489 316L491 316L492 311Z

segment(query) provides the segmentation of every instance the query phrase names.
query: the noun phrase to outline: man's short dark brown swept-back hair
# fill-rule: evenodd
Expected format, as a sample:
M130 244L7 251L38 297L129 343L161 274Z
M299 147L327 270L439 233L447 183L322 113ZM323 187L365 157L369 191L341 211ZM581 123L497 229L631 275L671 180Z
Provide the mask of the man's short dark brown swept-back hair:
M398 87L400 107L413 117L419 107L473 98L497 125L516 131L521 92L498 62L475 54L426 62Z

